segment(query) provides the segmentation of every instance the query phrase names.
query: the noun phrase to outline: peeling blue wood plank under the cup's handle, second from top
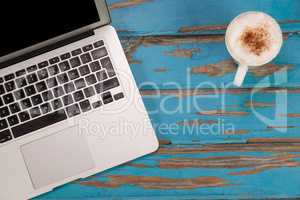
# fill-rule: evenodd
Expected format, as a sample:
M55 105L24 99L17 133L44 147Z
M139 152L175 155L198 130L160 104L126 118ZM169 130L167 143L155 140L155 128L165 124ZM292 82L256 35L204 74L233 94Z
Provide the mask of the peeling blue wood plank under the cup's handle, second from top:
M143 88L234 87L237 69L224 37L123 37L133 74ZM300 36L286 35L279 56L270 64L251 68L243 87L299 86Z

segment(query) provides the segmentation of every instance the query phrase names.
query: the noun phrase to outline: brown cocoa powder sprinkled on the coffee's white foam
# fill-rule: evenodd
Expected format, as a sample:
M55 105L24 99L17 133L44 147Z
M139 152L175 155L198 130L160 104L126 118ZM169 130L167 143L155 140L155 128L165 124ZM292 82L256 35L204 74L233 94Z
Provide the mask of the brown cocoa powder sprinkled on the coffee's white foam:
M270 34L264 27L246 28L240 40L243 46L257 56L270 48Z

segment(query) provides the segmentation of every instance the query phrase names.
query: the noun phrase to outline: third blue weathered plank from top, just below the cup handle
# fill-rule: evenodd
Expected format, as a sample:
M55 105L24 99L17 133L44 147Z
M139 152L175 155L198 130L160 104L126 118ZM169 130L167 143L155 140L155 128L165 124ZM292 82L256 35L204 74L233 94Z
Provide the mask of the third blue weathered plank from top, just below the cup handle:
M141 90L156 133L177 142L299 137L298 87Z

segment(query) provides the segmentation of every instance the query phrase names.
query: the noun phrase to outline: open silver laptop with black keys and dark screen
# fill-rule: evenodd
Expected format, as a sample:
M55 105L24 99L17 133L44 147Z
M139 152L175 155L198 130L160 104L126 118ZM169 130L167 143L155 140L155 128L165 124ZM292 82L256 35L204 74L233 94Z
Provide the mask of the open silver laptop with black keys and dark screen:
M0 17L0 199L158 148L105 0L5 1Z

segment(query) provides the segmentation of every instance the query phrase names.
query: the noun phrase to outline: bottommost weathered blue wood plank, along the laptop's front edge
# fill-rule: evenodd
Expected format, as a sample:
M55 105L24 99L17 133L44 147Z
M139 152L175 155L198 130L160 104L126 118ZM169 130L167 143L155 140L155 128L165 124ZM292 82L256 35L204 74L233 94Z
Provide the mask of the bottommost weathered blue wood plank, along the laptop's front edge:
M257 138L247 143L211 145L162 143L165 145L155 154L78 180L38 199L273 199L299 195L300 182L295 176L300 172L299 139L281 138L278 142Z

